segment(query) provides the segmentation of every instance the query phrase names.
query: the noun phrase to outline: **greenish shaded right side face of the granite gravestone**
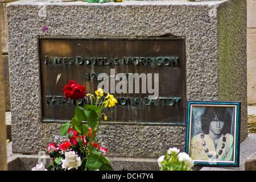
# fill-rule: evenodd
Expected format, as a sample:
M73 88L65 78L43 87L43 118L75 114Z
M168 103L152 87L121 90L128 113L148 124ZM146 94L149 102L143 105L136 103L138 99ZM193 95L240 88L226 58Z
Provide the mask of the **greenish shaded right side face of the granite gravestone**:
M242 101L241 139L243 140L248 134L246 1L226 1L220 5L218 11L218 100Z

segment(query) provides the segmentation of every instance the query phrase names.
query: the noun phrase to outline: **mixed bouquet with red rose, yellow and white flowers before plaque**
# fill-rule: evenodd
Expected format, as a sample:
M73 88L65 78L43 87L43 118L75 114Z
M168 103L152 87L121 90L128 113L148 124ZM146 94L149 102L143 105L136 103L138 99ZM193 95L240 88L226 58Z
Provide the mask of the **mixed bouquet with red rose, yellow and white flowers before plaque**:
M117 103L113 95L107 94L104 97L102 89L96 90L96 96L86 94L91 104L80 107L77 100L85 97L85 87L69 80L64 87L66 100L76 100L75 117L71 122L61 125L61 137L68 135L68 140L56 146L50 143L47 146L49 156L53 162L47 167L48 170L112 170L112 163L106 158L108 150L97 143L97 131L102 117L107 116L101 113L104 107L112 107ZM87 121L87 125L82 121Z

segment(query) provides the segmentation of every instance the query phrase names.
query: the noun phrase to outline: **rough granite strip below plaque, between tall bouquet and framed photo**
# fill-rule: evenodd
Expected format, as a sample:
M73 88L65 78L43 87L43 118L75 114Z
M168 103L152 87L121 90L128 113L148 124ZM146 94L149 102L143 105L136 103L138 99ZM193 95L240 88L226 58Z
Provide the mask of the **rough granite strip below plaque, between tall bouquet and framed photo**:
M112 157L158 158L169 147L185 150L184 127L102 125L98 134Z

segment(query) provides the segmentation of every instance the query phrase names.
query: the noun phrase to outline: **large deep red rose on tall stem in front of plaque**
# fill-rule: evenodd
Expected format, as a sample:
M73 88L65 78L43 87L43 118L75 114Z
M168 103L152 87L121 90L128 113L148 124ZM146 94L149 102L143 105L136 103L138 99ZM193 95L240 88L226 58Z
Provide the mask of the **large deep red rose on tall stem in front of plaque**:
M75 81L69 80L69 84L64 87L64 95L68 98L79 100L85 97L85 86L77 84Z

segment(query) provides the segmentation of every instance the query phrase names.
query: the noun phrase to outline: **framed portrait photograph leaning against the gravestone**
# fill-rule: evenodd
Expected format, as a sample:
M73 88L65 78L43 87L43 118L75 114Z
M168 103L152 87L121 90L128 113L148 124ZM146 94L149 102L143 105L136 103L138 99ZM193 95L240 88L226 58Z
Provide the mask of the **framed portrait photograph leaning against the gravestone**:
M198 166L239 167L241 102L187 101L186 152Z

